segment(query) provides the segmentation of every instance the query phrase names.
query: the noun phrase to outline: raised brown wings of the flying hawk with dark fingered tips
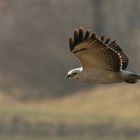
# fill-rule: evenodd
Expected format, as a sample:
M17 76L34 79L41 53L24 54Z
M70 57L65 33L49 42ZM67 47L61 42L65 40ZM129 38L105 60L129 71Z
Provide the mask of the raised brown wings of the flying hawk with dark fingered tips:
M115 72L127 68L128 57L116 41L90 34L88 30L84 32L83 28L74 31L74 37L69 38L69 46L86 71L94 67Z

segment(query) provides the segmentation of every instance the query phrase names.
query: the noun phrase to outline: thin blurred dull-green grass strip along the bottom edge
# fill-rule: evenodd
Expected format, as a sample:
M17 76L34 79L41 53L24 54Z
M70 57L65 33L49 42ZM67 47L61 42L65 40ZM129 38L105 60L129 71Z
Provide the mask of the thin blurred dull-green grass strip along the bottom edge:
M36 135L36 134L7 134L1 135L1 140L139 140L139 137L103 136L103 135Z

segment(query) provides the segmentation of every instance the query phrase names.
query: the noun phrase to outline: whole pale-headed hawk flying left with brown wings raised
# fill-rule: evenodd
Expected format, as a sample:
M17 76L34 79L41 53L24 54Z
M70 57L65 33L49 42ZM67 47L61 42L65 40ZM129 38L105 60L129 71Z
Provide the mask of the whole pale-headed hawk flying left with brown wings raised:
M81 64L68 72L69 79L95 84L136 83L140 79L140 75L126 70L128 57L116 41L80 27L69 38L69 47Z

